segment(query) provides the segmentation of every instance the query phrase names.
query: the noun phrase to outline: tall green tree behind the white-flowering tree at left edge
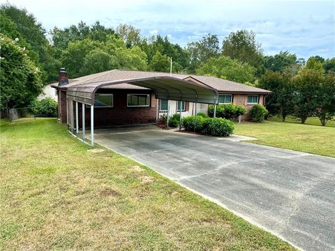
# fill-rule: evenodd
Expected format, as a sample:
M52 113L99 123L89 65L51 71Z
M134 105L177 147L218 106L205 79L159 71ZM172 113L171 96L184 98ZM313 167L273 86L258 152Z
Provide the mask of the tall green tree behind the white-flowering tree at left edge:
M40 72L43 74L43 80L50 82L56 79L59 61L54 57L54 50L45 37L46 31L42 24L38 23L34 15L28 13L27 10L17 8L10 3L1 5L0 13L6 15L13 22L15 30L31 45L31 50L38 54L36 64L38 64ZM8 33L7 35L10 36ZM10 36L10 38L13 37Z

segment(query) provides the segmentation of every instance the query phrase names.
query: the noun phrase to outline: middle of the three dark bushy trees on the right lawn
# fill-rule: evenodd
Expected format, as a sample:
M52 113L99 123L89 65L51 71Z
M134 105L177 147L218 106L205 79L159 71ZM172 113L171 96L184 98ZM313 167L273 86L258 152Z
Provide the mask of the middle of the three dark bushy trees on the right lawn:
M301 119L301 123L305 123L306 119L318 109L320 86L325 81L324 74L322 63L312 58L308 59L306 66L294 77L296 90L294 116Z

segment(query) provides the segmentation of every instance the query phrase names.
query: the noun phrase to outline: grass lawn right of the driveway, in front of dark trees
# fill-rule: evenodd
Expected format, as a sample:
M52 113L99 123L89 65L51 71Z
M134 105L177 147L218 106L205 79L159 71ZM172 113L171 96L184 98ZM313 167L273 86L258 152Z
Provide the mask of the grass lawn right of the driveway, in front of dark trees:
M285 122L273 117L265 123L235 123L234 133L258 138L248 141L255 144L335 157L334 121L321 126L318 118L308 118L301 124L290 117Z

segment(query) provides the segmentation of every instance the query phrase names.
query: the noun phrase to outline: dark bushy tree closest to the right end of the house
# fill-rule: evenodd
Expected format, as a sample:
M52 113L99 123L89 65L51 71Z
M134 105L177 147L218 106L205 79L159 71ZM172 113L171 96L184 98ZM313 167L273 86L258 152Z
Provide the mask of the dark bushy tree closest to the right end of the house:
M285 121L286 116L292 114L294 106L294 86L290 75L267 70L260 78L258 86L272 91L265 99L265 107L269 114L281 114L281 118Z

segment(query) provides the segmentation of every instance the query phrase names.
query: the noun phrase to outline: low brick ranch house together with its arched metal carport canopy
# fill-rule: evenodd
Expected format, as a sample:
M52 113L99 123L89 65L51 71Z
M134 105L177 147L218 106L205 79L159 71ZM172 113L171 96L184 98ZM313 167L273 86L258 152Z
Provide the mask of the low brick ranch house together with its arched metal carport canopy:
M63 68L59 83L51 86L57 89L62 123L90 126L91 116L94 127L156 123L163 114L180 112L180 107L181 116L207 113L209 104L233 103L250 110L257 103L263 105L271 93L217 77L136 70L108 70L68 79ZM74 121L77 113L82 116ZM242 119L248 118L246 114Z

